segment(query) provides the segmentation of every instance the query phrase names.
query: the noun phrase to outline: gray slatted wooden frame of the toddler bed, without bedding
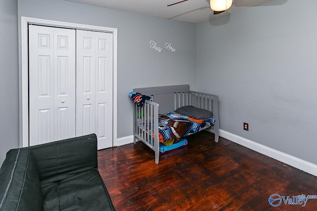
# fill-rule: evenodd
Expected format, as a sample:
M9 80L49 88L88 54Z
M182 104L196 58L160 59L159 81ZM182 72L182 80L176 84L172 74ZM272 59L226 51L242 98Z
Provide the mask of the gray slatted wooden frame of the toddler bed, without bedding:
M189 90L189 85L171 85L135 88L141 94L151 96L153 102L146 100L143 107L134 108L134 143L137 139L155 151L155 163L159 164L159 114L174 111L182 106L192 105L213 113L213 127L206 130L214 133L215 142L219 140L218 96ZM143 127L143 126L151 127Z

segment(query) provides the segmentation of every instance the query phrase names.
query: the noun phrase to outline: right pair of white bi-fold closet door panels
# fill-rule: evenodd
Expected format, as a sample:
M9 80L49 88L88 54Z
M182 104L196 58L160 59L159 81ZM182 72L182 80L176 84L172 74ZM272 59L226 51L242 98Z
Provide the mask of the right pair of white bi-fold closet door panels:
M77 30L76 42L76 136L96 133L98 149L112 147L112 34Z

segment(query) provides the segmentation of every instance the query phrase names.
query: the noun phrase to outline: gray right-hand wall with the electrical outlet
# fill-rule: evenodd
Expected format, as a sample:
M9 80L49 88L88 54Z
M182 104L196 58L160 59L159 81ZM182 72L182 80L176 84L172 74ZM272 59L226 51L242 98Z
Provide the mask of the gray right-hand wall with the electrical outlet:
M219 95L220 129L313 164L316 7L274 0L197 25L197 89Z

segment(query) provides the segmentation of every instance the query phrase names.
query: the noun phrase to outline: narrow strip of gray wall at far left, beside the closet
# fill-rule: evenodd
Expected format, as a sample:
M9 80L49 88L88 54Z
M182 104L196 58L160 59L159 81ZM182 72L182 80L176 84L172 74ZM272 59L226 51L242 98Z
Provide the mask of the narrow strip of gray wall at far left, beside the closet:
M0 165L19 147L17 0L0 0Z

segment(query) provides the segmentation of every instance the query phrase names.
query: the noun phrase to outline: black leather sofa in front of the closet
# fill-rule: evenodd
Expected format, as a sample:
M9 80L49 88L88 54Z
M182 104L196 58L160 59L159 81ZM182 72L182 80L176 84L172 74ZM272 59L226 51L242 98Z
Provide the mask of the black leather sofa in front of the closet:
M114 211L98 171L95 134L7 152L0 211Z

